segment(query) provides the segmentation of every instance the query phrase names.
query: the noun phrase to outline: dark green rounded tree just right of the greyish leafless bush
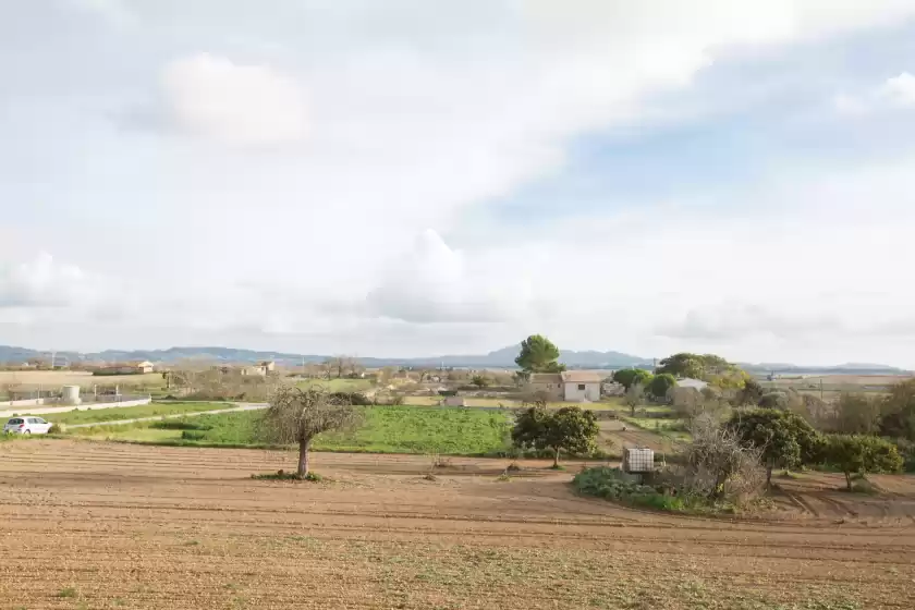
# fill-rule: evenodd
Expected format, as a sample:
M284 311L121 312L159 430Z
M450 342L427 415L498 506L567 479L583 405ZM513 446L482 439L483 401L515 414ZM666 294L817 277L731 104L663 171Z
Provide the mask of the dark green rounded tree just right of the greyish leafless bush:
M728 428L741 443L760 451L766 465L766 487L771 485L772 468L793 468L814 461L817 455L817 431L790 411L756 408L735 413Z

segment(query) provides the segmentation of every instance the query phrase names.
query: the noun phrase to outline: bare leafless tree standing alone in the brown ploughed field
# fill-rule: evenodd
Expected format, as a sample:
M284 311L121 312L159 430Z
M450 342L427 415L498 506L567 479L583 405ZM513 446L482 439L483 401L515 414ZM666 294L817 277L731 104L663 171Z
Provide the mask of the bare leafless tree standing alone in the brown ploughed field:
M312 441L321 432L349 428L358 422L359 413L339 394L324 388L306 390L281 386L270 398L264 412L261 435L278 443L298 443L300 477L308 474L308 452Z

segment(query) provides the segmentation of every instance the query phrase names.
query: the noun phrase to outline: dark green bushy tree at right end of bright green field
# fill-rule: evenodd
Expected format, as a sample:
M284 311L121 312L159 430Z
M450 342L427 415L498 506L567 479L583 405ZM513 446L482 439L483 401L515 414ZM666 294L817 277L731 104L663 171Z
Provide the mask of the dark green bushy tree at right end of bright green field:
M595 449L599 432L597 418L590 411L565 406L549 411L535 406L522 412L512 429L512 442L521 449L553 452L553 466L559 466L559 452L586 454Z

